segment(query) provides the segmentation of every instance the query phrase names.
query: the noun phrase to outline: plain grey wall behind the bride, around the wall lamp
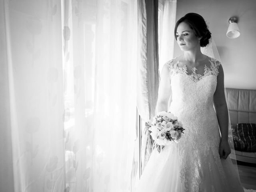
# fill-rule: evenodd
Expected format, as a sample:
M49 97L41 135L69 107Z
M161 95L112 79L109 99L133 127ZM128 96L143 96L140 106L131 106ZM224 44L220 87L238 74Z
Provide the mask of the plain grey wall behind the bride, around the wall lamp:
M204 17L218 48L228 88L256 90L256 0L177 0L178 20L188 12ZM238 16L240 36L226 36L228 19ZM173 34L171 34L173 35ZM182 54L175 44L174 57Z

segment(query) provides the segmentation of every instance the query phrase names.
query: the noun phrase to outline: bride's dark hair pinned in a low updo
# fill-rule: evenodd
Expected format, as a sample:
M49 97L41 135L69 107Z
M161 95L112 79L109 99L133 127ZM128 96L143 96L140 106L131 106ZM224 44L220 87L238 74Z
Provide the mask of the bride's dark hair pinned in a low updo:
M200 46L205 47L209 44L209 39L211 38L211 32L208 30L208 26L202 16L197 13L188 13L184 17L180 18L174 28L174 37L177 40L176 32L178 25L181 22L186 22L189 27L194 31L197 37L202 37L200 40Z

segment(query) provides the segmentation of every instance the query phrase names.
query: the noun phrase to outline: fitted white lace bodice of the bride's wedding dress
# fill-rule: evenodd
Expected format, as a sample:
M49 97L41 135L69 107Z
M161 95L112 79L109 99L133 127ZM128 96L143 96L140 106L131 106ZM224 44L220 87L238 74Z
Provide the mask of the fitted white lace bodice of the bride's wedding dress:
M209 58L209 62L210 65L204 66L204 75L196 74L196 68L188 74L186 66L178 67L179 61L175 59L167 63L172 87L172 103L169 109L177 115L180 114L181 118L186 117L187 120L197 117L198 120L201 115L214 112L213 96L220 62L213 58ZM215 113L213 115L216 116Z

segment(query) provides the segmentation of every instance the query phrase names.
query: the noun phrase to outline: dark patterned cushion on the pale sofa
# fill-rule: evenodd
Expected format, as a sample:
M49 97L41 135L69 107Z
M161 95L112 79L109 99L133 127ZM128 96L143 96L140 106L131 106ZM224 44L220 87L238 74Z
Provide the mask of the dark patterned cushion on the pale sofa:
M235 150L256 152L256 124L239 123L232 126Z

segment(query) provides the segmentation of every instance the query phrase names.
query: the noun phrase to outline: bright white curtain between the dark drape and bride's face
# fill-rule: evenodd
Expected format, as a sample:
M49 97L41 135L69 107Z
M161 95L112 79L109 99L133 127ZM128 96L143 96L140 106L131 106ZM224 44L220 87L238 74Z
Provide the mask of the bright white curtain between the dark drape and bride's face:
M159 71L164 64L173 59L174 28L176 24L177 0L159 0L158 37L159 37Z

